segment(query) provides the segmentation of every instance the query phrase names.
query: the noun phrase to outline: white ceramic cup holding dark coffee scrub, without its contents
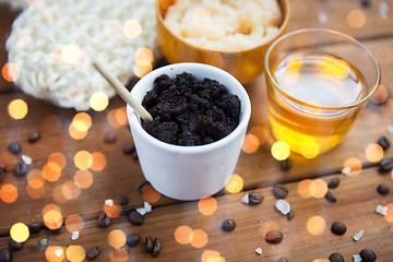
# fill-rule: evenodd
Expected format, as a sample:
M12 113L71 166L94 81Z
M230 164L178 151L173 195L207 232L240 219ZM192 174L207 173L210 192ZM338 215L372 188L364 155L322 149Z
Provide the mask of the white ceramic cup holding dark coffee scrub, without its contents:
M234 174L241 144L251 116L250 98L245 87L229 73L202 63L175 63L158 68L143 76L132 88L131 95L140 103L153 88L160 74L175 79L188 72L199 81L204 78L224 84L241 103L238 127L219 141L205 145L181 146L162 142L141 126L140 117L127 106L139 162L147 181L162 194L177 200L198 200L210 196L229 181Z

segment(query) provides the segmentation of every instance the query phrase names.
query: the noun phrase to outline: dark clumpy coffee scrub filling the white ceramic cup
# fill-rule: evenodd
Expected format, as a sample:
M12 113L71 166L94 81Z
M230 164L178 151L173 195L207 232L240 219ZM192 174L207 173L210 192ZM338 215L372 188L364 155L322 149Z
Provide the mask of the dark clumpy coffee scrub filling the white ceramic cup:
M166 74L142 105L153 116L142 127L154 138L177 145L203 145L228 135L239 124L240 100L226 86L211 79L198 81L183 72L176 79Z

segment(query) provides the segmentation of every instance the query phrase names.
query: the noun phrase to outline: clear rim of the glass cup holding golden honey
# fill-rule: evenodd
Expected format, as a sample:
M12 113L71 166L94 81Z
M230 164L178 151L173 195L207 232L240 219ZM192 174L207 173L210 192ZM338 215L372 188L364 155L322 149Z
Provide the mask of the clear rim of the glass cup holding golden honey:
M302 100L299 100L297 98L295 98L294 96L291 95L288 95L286 92L284 92L279 85L277 84L277 82L274 80L272 73L271 73L271 70L269 69L269 58L270 58L270 53L271 51L273 50L273 48L282 40L284 40L285 38L288 38L293 35L297 35L297 34L303 34L303 33L307 33L307 32L324 32L324 33L329 33L329 34L335 34L335 35L338 35L341 37L344 37L346 39L349 39L350 41L357 44L360 48L362 48L370 57L371 57L371 60L373 61L374 66L376 66L376 70L377 70L377 80L376 80L376 83L373 84L373 86L371 87L371 92L369 92L369 94L367 96L365 96L364 98L361 98L360 100L357 100L355 103L350 103L350 104L347 104L347 105L344 105L344 106L315 106L315 105L312 105L312 104L309 104L307 102L302 102ZM358 107L358 106L361 106L366 103L368 103L371 98L371 96L377 92L378 90L378 86L381 82L381 70L380 70L380 66L376 59L376 57L371 53L371 51L364 45L361 44L359 40L355 39L354 37L349 36L349 35L346 35L344 33L341 33L341 32L337 32L337 31L332 31L332 29L325 29L325 28L305 28L305 29L297 29L297 31L294 31L294 32L290 32L290 33L287 33L281 37L278 37L267 49L266 53L265 53L265 57L264 57L264 71L265 73L267 74L269 79L272 81L273 83L273 87L279 93L282 94L283 96L285 96L286 98L290 99L291 102L295 102L297 104L301 104L303 106L307 106L307 107L310 107L310 108L315 108L315 109L323 109L323 110L343 110L343 109L350 109L350 108L355 108L355 107Z

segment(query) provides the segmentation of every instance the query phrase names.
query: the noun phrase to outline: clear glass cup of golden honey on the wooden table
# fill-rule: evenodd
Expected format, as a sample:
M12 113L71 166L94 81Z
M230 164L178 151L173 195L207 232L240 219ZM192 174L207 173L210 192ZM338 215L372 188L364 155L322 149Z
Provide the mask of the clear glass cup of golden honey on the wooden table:
M341 143L380 83L372 53L345 34L288 33L264 60L271 132L291 152L313 158Z

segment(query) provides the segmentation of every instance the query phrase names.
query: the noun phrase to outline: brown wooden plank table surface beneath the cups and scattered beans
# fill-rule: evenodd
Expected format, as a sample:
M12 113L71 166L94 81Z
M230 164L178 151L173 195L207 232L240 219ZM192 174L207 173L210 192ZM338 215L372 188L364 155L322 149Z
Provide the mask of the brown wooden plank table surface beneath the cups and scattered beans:
M242 182L237 184L240 191L231 193L224 189L202 202L175 201L159 195L151 187L145 187L142 191L139 189L145 181L139 162L122 152L124 144L132 143L131 132L127 123L111 126L108 120L116 110L120 115L122 112L124 103L119 97L112 98L104 111L87 111L93 124L83 140L74 140L69 134L69 126L76 111L25 95L1 78L0 163L4 162L12 167L12 164L21 162L22 155L29 156L33 159L27 168L29 174L34 169L45 169L49 156L58 153L67 164L57 181L46 181L40 186L32 187L28 176L16 177L12 170L5 172L0 181L0 248L9 247L10 227L15 223L38 223L43 225L41 230L31 235L22 250L12 252L13 261L82 261L83 251L91 247L99 247L102 250L95 261L273 262L287 258L288 261L317 262L326 261L332 252L340 252L345 261L353 261L353 255L362 249L373 250L377 261L393 261L393 172L380 175L380 163L370 162L366 154L368 146L372 146L380 136L393 139L393 2L373 0L369 1L369 5L361 2L367 1L291 0L288 31L331 28L364 43L380 62L381 91L388 91L388 98L379 104L369 103L336 148L314 159L291 155L293 167L284 171L271 155L265 84L264 78L260 76L246 87L252 103L249 131L253 132L255 127L262 130L261 144L253 153L240 154L235 170L237 178L240 178L238 180ZM11 11L7 5L0 5L1 67L7 62L3 44L16 15L17 12ZM354 27L352 15L357 15L357 23L362 19L365 23L360 23L360 27ZM7 110L9 103L16 98L28 105L28 114L22 120L12 119ZM28 143L27 136L33 131L39 131L41 139L36 143ZM109 131L116 134L116 143L104 143L104 135ZM22 152L17 156L12 156L8 151L11 141L22 145ZM392 147L383 152L382 159L393 157ZM93 175L93 183L82 189L73 180L79 170L74 165L74 156L80 151L100 153L106 159L104 164L94 162L94 166L88 169ZM371 156L376 156L376 153ZM342 172L348 158L361 163L361 169L352 172L352 176ZM96 166L97 163L102 167ZM333 178L341 180L340 186L331 190L337 199L336 203L318 195L319 190L323 191L326 182ZM295 217L290 221L275 210L277 200L272 194L272 186L277 183L289 190L285 200L295 212ZM305 195L309 191L305 191L303 186L310 183L318 186L315 196ZM389 194L381 195L377 192L377 187L381 183L391 188ZM10 192L7 188L15 190ZM243 195L252 191L262 193L264 201L255 206L241 203ZM15 192L17 198L12 199ZM143 225L134 226L127 216L119 215L111 219L109 227L98 226L97 217L105 201L118 194L129 199L124 210L142 207L145 201L152 204L152 212L144 215ZM200 207L201 203L205 204L205 209ZM62 216L59 219L62 226L57 234L44 226L44 207L50 209L53 205L59 207ZM378 205L390 206L388 215L377 214ZM80 219L76 224L72 223L75 217ZM235 219L237 224L231 233L221 229L222 223L227 218ZM347 231L343 236L332 234L333 222L344 223ZM270 227L277 227L283 233L281 243L272 245L264 240L264 233ZM188 238L186 233L178 235L182 228L191 228L193 238ZM354 241L353 237L361 229L365 230L364 237ZM72 235L74 230L79 231L79 237L72 240L72 236L75 238L75 234ZM129 251L112 247L122 246L122 237L131 233L139 234L143 240L147 236L157 237L162 243L159 255L153 258L145 253L143 241ZM183 241L176 238L175 233L176 236L182 236ZM49 239L49 243L41 247L38 243L45 237ZM191 239L191 242L187 239ZM262 254L255 253L257 248L262 249Z

